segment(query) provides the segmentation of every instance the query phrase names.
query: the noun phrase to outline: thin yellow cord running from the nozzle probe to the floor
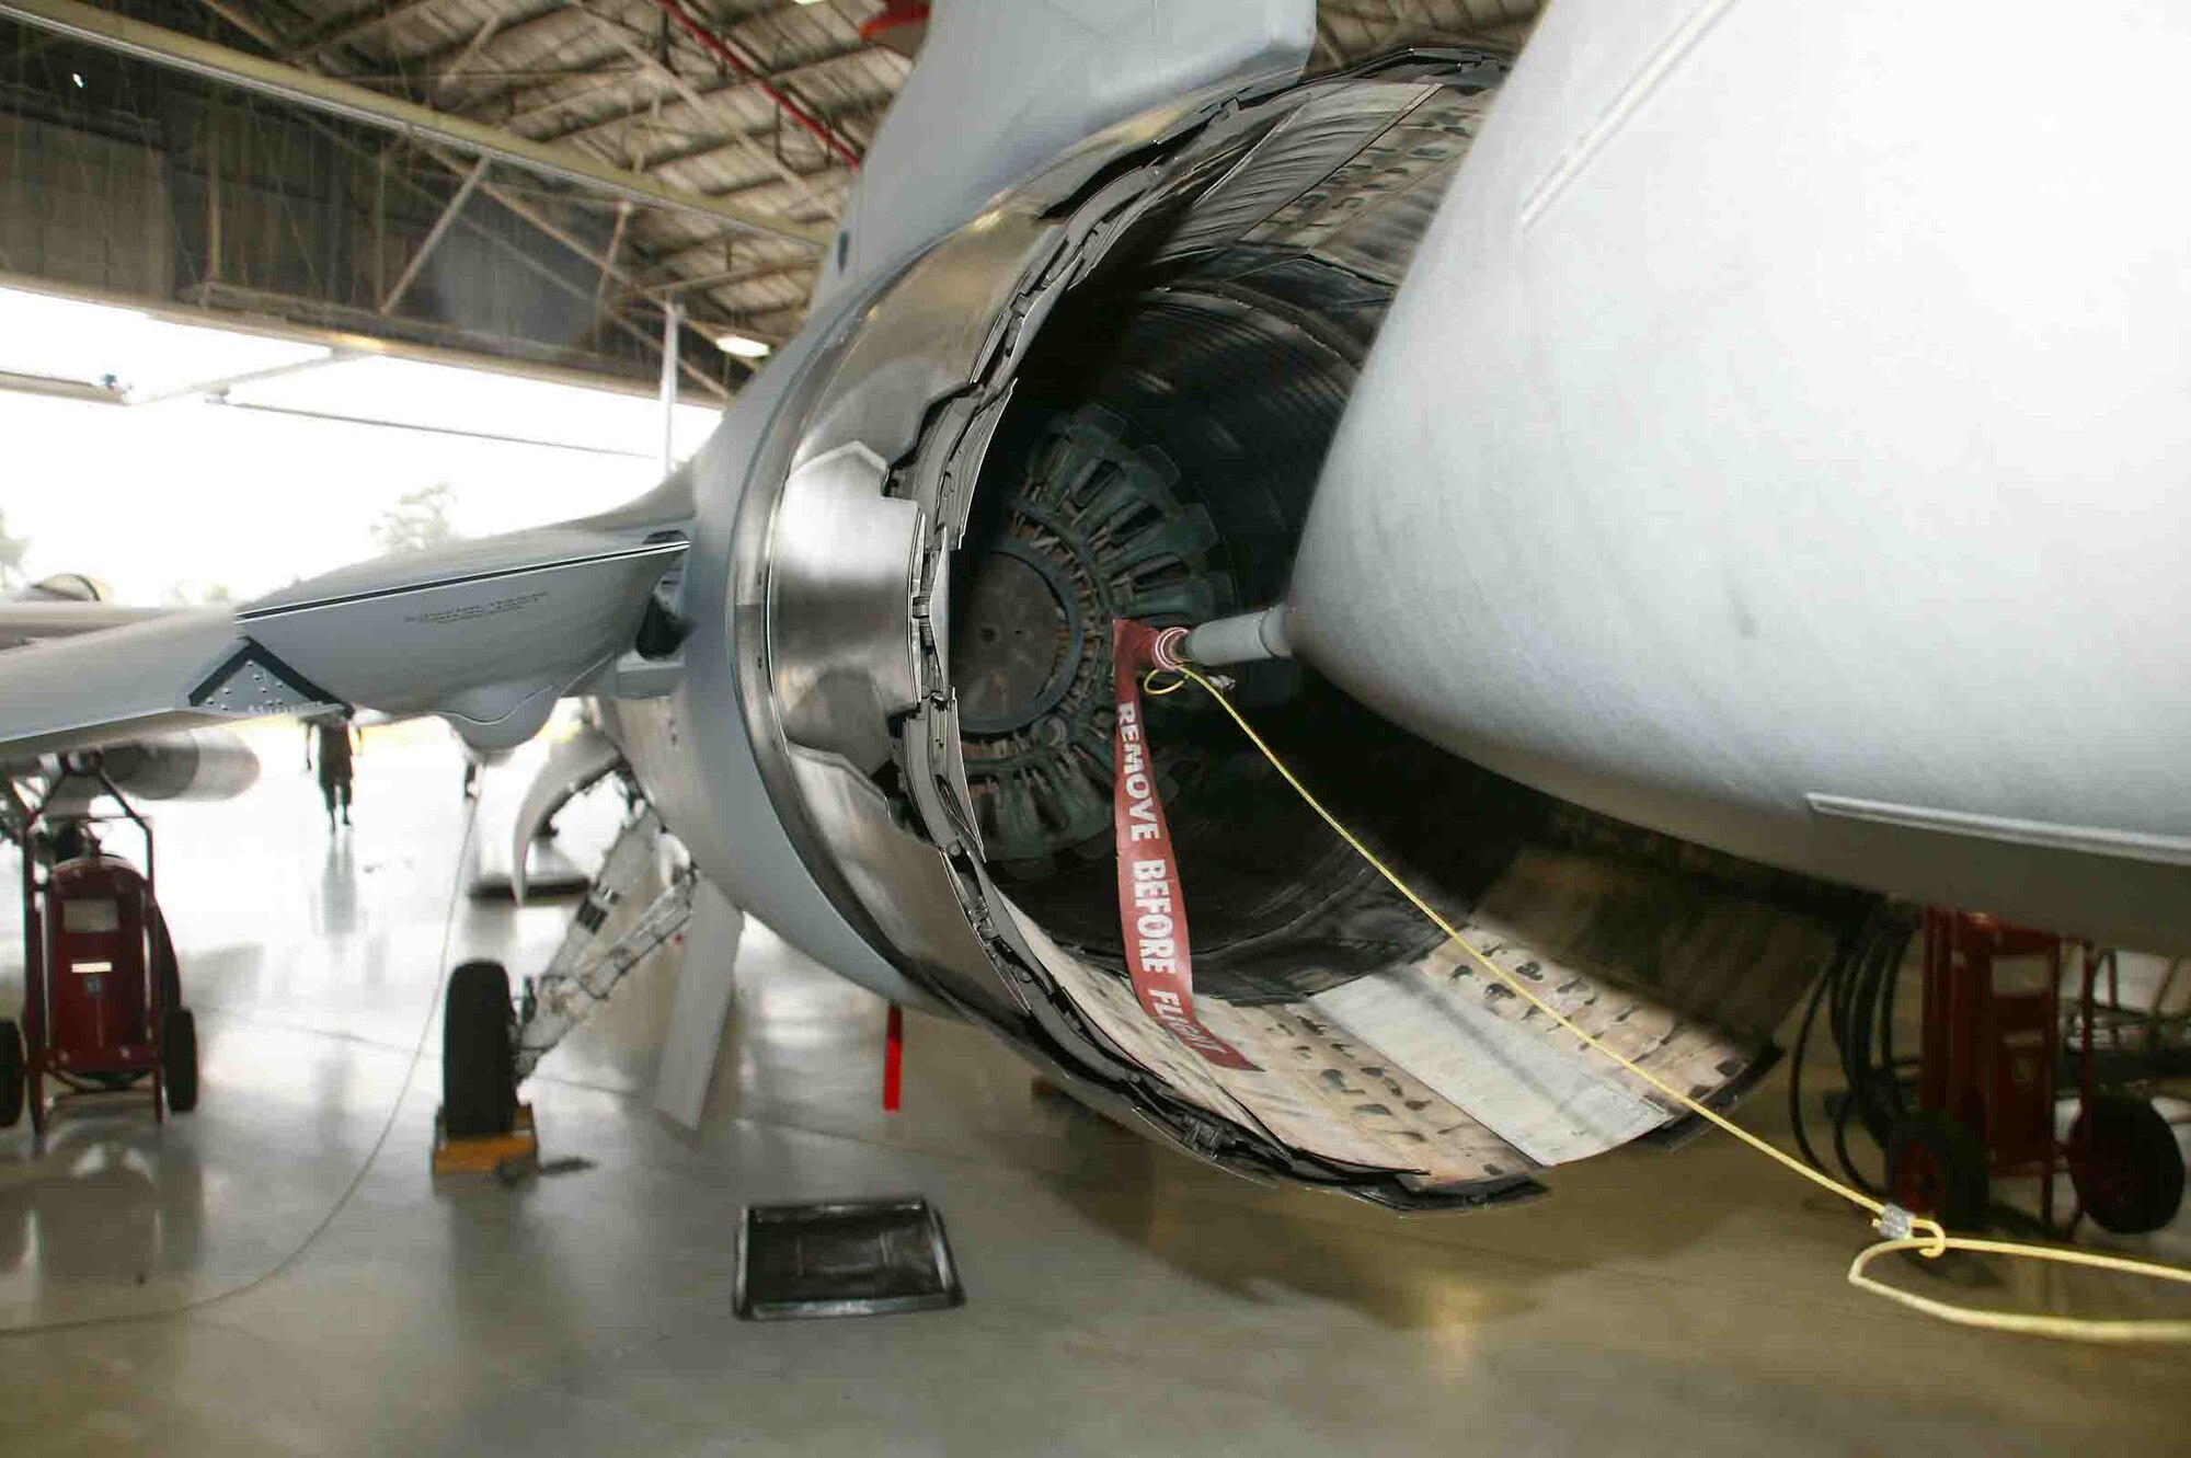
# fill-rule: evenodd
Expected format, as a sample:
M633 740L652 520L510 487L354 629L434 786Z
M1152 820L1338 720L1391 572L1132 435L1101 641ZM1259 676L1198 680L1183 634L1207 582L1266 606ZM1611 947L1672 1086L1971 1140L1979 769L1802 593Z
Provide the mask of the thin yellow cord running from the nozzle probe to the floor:
M2158 1265L2154 1261L2132 1261L2127 1257L2108 1257L2108 1254L2097 1254L2097 1252L2090 1252L2090 1250L2073 1250L2068 1246L2029 1246L2029 1243L2020 1243L2020 1241L1983 1241L1983 1239L1972 1239L1972 1237L1965 1237L1965 1235L1948 1235L1948 1230L1941 1228L1941 1224L1937 1219L1928 1219L1924 1215L1913 1215L1913 1213L1904 1211L1902 1206L1884 1204L1880 1200L1873 1200L1871 1195L1862 1193L1860 1189L1843 1184L1840 1180L1836 1180L1834 1176L1825 1173L1823 1169L1812 1169L1810 1165L1805 1165L1803 1160L1794 1158L1786 1149L1779 1149L1777 1145L1766 1143L1764 1138L1751 1134L1748 1130L1744 1130L1742 1125L1733 1123L1731 1119L1727 1119L1727 1116L1722 1116L1722 1114L1705 1108L1702 1103L1698 1103L1696 1099L1691 1099L1683 1090L1672 1088L1670 1084L1665 1084L1659 1077L1645 1073L1643 1068L1637 1068L1630 1060L1621 1057L1619 1053L1615 1053L1613 1049L1608 1049L1606 1044L1602 1044L1597 1038L1593 1038L1591 1033L1584 1033L1580 1027L1575 1027L1567 1016L1562 1016L1558 1009L1553 1009L1549 1003L1545 1003L1545 998L1536 996L1527 987L1527 983L1523 983L1518 976L1514 976L1512 972L1507 972L1505 968L1501 968L1499 963L1494 963L1490 957L1485 957L1483 952L1479 952L1466 937L1461 937L1461 933L1446 917L1442 917L1437 913L1435 906L1431 906L1426 900L1422 900L1420 895L1415 895L1413 887L1409 887L1404 880L1400 880L1400 876L1393 873L1393 869L1389 865L1385 865L1383 860L1378 860L1376 852L1372 852L1367 845L1363 845L1361 838L1352 830L1347 830L1345 825L1339 823L1339 817L1334 817L1330 810L1323 808L1323 801L1319 801L1315 795L1310 795L1308 786L1301 784L1299 777L1295 777L1295 773L1286 766L1284 760L1277 757L1277 751L1273 751L1262 740L1262 736L1255 733L1255 727L1249 725L1247 718L1240 716L1240 709L1236 709L1231 705L1231 701L1223 692L1218 692L1218 685L1214 685L1209 679L1205 679L1203 674L1198 674L1192 668L1179 668L1177 672L1179 672L1179 676L1172 679L1170 683L1159 683L1161 670L1152 670L1142 681L1144 692L1150 694L1152 698L1161 698L1163 694L1179 692L1181 683L1185 683L1190 679L1194 683L1198 683L1203 687L1203 692L1209 694L1216 701L1216 705L1220 709L1225 709L1227 716L1231 716L1231 720L1240 727L1240 733L1244 733L1249 738L1249 742L1255 744L1255 749L1262 751L1262 757L1271 762L1271 768L1275 768L1280 775L1284 775L1286 784L1293 786L1295 795L1299 795L1308 803L1308 808L1315 810L1323 819L1323 823L1330 825L1339 834L1339 838L1345 841L1354 849L1356 856L1361 856L1363 860L1367 860L1369 869L1374 869L1378 876L1383 876L1387 882L1391 882L1393 891L1398 891L1409 902L1413 902L1415 911L1420 911L1422 915L1431 917L1431 922L1437 926L1437 930L1446 933L1455 941L1455 946L1459 946L1464 952L1468 952L1468 957L1477 965L1481 965L1485 972L1490 972L1501 983L1505 983L1507 990L1512 990L1518 996L1527 998L1527 1003L1532 1007L1536 1007L1540 1014L1545 1014L1547 1018L1551 1018L1558 1027L1562 1027L1569 1033L1573 1033L1584 1046L1595 1049L1597 1053L1610 1057L1615 1064L1619 1064L1621 1068L1626 1068L1634 1077L1643 1079L1645 1084L1650 1084L1652 1088L1656 1088L1667 1099L1674 1099L1676 1103L1680 1103L1683 1108L1687 1108L1691 1114L1698 1114L1700 1119L1707 1119L1713 1125L1727 1130L1729 1134L1733 1134L1735 1138L1740 1138L1742 1143L1746 1143L1751 1149L1757 1149L1757 1154L1764 1154L1766 1158L1779 1160L1783 1167L1788 1167L1794 1173L1803 1176L1812 1184L1819 1184L1821 1189L1829 1189L1832 1193L1840 1195L1849 1204L1856 1204L1856 1206L1865 1208L1873 1217L1871 1219L1873 1228L1880 1230L1880 1235L1886 1235L1889 1239L1875 1241L1871 1246L1865 1246L1860 1252L1856 1252L1856 1259L1849 1263L1849 1285L1854 1285L1856 1289L1871 1292L1873 1296L1884 1296L1886 1300L1902 1303L1904 1307L1911 1307L1913 1311L1924 1311L1926 1316L1937 1316L1939 1320L1957 1322L1959 1327L1983 1327L1983 1329L1989 1329L1989 1331L2020 1331L2020 1333L2029 1333L2029 1335L2075 1338L2075 1340L2081 1340L2081 1342L2191 1342L2191 1320L2084 1320L2084 1318L2070 1318L2070 1316L2040 1316L2040 1314L2027 1314L2027 1311L1981 1311L1981 1309L1972 1309L1972 1307L1957 1307L1957 1305L1950 1305L1946 1300L1935 1300L1932 1296L1919 1296L1915 1292L1904 1292L1904 1289L1891 1287L1891 1285L1886 1285L1882 1281L1875 1281L1873 1276L1865 1274L1865 1268L1871 1265L1871 1261L1875 1261L1882 1254L1891 1254L1895 1250L1917 1250L1917 1252L1922 1252L1926 1257L1935 1257L1935 1259L1941 1257L1941 1254L1946 1254L1946 1252L1950 1252L1950 1250L1968 1250L1972 1254L2003 1254L2003 1257L2016 1257L2016 1259L2024 1259L2024 1261L2053 1261L2053 1263L2060 1263L2060 1265L2088 1265L2088 1268L2095 1268L2095 1270L2110 1270L2110 1272L2121 1272L2121 1274L2130 1274L2130 1276L2147 1276L2152 1281L2176 1281L2180 1285L2191 1285L2191 1270L2180 1270L2176 1265Z

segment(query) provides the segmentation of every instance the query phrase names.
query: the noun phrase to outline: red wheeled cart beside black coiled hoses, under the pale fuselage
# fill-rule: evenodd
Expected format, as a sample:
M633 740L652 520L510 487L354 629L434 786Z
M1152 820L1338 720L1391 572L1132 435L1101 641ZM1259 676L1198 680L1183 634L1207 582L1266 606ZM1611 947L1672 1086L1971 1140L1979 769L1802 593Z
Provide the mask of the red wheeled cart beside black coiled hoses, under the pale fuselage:
M2079 998L2064 1018L2070 968ZM1996 1176L2038 1176L2040 1219L2057 1235L2086 1215L2117 1235L2176 1217L2184 1195L2176 1130L2141 1092L2149 1081L2141 1068L2103 1060L2099 1046L2103 972L2112 979L2112 952L1985 915L1926 911L1917 1112L1886 1138L1897 1204L1968 1230L1985 1224ZM2055 1097L2070 1079L2077 1119L2062 1138ZM2062 1169L2077 1206L2057 1224Z

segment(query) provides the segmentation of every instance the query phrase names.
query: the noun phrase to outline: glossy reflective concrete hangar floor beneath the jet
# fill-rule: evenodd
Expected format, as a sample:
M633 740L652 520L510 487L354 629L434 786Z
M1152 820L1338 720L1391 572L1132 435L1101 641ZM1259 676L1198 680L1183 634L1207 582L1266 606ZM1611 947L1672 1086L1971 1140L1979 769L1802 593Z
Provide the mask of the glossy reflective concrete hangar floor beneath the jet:
M0 1134L0 1451L2191 1447L2180 1349L1869 1300L1843 1285L1865 1228L1724 1138L1402 1222L1190 1165L925 1018L885 1116L883 1007L758 928L697 1136L646 1099L657 968L530 1084L546 1154L592 1169L434 1184L438 974L537 968L565 909L451 893L464 810L438 731L368 744L333 841L272 744L245 801L158 817L199 1112L83 1114L44 1149ZM1744 1116L1783 1134L1777 1095ZM745 1202L898 1191L949 1219L962 1309L732 1318ZM2081 1278L1992 1294L2160 1309Z

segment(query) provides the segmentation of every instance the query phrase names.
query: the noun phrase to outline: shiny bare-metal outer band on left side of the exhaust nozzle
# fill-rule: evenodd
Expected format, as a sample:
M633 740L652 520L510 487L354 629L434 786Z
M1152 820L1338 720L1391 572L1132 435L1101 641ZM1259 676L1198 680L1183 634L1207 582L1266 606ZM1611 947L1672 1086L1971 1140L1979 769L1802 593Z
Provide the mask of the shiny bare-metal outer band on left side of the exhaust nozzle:
M929 615L955 530L894 493L892 468L931 427L931 405L966 392L1010 346L1023 317L1012 300L1063 287L1045 269L1056 232L993 212L850 309L844 344L798 377L754 462L730 554L732 679L791 841L916 985L1001 1018L1017 1018L1019 998L984 952L962 882L870 775L894 753L892 720L922 703L925 668L940 663ZM971 425L964 414L947 423L957 429L944 451Z

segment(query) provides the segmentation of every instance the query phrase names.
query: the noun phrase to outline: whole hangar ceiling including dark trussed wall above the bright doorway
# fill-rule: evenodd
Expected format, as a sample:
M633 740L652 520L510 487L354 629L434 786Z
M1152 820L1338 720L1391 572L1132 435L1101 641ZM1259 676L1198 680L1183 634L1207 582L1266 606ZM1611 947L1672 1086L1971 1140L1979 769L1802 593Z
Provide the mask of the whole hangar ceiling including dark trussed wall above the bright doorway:
M760 230L482 164L85 39L0 2L0 274L727 396L798 326L911 61L905 0L121 0L127 15L578 153ZM1536 0L1321 0L1317 68L1518 42ZM0 280L4 282L4 280Z

